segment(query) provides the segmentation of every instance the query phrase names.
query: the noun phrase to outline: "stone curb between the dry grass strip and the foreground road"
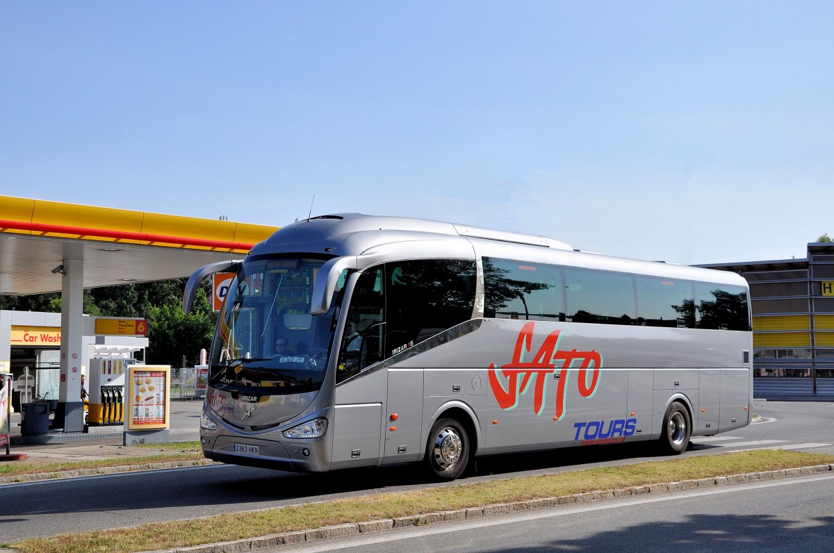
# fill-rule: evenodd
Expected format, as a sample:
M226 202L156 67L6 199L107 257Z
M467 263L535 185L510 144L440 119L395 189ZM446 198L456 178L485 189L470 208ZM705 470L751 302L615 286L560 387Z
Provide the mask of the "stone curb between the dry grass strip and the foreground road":
M339 525L322 526L308 530L294 530L279 534L261 535L254 538L242 540L220 541L218 543L204 545L190 545L188 547L176 547L173 549L143 551L142 553L234 553L235 551L259 550L277 545L290 545L319 540L332 540L351 535L370 534L394 528L407 526L419 526L448 522L450 520L465 520L482 518L485 516L505 515L508 513L523 510L549 509L559 505L575 505L592 503L601 500L612 500L622 497L633 497L636 495L657 494L668 491L695 490L697 488L709 488L721 485L743 484L760 480L774 480L789 476L816 475L834 471L832 465L805 466L796 469L765 470L763 472L751 472L741 475L713 476L699 480L681 480L680 482L667 482L664 484L638 485L620 490L596 490L581 494L565 495L562 497L543 497L534 500L511 501L510 503L498 503L495 505L483 505L457 510L445 510L435 513L423 513L421 515L398 516L390 519L367 520L364 522L350 522Z

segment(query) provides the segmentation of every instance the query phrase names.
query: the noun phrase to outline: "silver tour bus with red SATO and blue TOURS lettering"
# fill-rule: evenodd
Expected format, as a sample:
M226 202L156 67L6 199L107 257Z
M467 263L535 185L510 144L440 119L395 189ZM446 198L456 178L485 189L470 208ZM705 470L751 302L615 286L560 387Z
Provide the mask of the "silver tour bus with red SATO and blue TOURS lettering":
M737 274L540 236L334 214L276 231L219 314L200 422L213 460L320 472L656 440L750 422Z

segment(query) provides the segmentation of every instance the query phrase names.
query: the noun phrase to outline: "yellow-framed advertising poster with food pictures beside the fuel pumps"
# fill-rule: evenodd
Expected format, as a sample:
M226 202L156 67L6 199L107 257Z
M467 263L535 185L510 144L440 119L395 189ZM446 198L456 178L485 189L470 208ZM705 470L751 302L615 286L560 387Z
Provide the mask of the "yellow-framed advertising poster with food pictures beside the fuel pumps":
M128 429L168 428L168 375L167 365L131 367Z

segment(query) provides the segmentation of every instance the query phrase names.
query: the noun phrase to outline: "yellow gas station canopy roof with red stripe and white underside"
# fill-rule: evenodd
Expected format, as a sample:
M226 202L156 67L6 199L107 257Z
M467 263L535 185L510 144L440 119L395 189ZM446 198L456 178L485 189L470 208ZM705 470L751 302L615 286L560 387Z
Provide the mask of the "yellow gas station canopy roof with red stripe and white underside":
M0 196L0 294L60 291L69 256L83 259L83 288L186 277L277 229Z

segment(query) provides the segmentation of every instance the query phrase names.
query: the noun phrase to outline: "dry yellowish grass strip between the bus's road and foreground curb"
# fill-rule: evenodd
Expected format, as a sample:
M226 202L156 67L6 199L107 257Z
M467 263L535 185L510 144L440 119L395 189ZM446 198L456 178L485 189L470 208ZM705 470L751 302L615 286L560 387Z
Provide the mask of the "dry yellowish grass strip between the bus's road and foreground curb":
M3 546L25 553L129 553L170 549L347 522L830 463L834 463L834 455L786 450L700 455L635 465L596 467L556 475L524 476L403 493L368 495L349 500L331 500L119 530L56 535Z

